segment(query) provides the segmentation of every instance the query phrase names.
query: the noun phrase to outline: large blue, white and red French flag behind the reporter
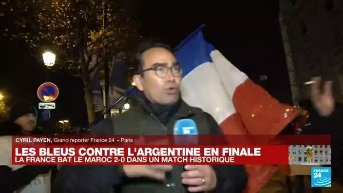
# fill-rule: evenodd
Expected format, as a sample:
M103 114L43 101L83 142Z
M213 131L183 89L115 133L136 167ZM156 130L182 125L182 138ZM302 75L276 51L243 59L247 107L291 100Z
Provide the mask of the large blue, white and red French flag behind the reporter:
M291 106L279 103L267 91L232 65L204 39L203 26L176 48L183 70L182 98L212 115L225 135L277 135L295 118ZM275 166L246 166L245 192L256 193L265 185Z

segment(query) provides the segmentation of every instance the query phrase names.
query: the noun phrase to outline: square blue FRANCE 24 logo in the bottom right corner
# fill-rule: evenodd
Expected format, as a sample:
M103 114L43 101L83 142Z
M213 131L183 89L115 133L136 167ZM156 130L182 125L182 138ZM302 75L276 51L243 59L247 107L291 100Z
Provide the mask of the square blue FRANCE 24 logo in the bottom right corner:
M311 187L331 187L331 167L311 168Z

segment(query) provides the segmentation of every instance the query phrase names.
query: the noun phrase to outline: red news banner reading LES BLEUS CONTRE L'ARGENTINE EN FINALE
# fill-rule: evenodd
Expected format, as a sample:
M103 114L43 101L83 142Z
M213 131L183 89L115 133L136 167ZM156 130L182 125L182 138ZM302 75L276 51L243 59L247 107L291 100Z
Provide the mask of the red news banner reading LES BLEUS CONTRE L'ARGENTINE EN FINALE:
M199 136L14 136L14 165L249 164L287 165L288 145L217 144ZM213 136L211 136L213 137ZM214 139L214 138L213 138ZM209 140L209 141L207 141Z

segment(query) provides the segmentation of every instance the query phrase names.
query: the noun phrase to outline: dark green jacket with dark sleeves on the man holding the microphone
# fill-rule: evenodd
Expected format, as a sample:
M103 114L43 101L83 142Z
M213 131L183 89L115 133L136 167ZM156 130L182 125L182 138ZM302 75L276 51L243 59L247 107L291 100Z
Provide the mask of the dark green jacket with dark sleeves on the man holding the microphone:
M220 127L207 113L181 101L175 115L167 124L162 124L144 102L139 102L129 111L102 120L93 134L115 135L166 135L173 134L178 119L191 118L195 121L199 135L221 134ZM213 166L217 176L216 192L241 193L247 183L243 166ZM186 193L181 183L183 166L173 166L165 182L149 178L128 178L119 173L119 166L65 166L62 167L54 187L55 192L65 193Z

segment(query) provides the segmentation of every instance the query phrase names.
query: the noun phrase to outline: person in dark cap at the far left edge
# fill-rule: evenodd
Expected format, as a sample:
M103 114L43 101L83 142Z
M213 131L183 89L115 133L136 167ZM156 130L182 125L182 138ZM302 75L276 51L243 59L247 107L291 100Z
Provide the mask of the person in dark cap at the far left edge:
M37 110L19 99L8 121L0 123L0 192L50 193L52 169L56 166L12 165L12 135L38 134Z

